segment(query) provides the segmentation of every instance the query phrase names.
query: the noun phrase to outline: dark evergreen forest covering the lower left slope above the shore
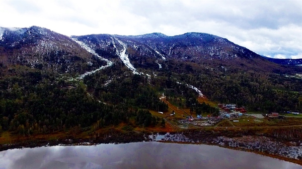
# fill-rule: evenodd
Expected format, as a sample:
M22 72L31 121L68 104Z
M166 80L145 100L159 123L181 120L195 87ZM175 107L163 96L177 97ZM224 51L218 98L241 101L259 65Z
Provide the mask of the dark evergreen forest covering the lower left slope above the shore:
M135 89L144 81L140 76L125 78L122 83L116 82L116 85L121 86L112 88L112 91L107 90L108 94L96 95L96 98L108 103L104 104L78 81L63 80L54 74L22 66L11 68L10 72L10 75L0 80L0 130L10 130L17 134L85 128L95 123L103 127L128 123L131 117L135 117L137 125L149 126L157 124L161 119L152 117L148 110L140 108L168 109L151 87L141 87L138 92L130 94L132 90L128 89ZM132 83L127 83L129 80ZM90 89L91 86L87 86ZM129 87L127 92L115 91L126 87ZM96 90L94 93L98 92L101 91ZM129 97L123 99L124 95L119 94L129 94Z

